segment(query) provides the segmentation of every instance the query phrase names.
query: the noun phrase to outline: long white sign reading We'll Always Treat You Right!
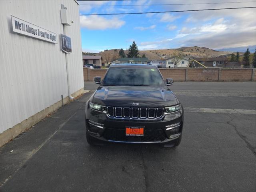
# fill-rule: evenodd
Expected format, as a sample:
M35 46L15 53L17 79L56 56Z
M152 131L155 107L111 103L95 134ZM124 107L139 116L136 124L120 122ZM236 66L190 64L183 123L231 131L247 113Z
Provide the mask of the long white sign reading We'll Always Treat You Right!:
M11 15L12 30L16 33L57 44L57 34Z

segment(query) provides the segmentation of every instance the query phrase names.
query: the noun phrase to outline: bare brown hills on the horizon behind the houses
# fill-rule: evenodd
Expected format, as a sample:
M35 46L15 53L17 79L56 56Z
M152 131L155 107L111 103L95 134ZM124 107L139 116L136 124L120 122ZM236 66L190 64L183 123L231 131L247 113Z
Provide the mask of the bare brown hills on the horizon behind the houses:
M102 56L102 62L111 62L117 60L119 49L105 50L94 54L95 56ZM206 47L181 47L178 49L158 49L158 50L145 50L140 51L140 56L145 54L149 60L157 60L161 58L171 57L173 54L182 54L186 58L194 57L218 57L218 56L227 56L232 52L228 51L216 51L208 49Z

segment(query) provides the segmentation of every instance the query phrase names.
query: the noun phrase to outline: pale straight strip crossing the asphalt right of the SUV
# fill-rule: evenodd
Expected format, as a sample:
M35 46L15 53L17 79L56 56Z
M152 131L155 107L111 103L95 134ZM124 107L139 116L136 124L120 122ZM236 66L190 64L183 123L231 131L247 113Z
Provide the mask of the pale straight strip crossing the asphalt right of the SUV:
M247 109L214 109L214 108L185 107L184 110L185 112L196 112L196 113L256 114L256 110L247 110Z

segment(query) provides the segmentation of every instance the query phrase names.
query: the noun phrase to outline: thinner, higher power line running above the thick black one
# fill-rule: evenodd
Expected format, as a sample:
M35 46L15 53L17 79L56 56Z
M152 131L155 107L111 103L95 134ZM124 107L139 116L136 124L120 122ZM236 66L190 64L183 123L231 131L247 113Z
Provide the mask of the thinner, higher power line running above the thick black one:
M180 3L180 4L130 4L130 5L106 5L106 4L80 4L80 5L92 5L92 6L160 6L160 5L201 5L201 4L230 4L230 3L254 3L255 1L244 2L214 2L214 3Z

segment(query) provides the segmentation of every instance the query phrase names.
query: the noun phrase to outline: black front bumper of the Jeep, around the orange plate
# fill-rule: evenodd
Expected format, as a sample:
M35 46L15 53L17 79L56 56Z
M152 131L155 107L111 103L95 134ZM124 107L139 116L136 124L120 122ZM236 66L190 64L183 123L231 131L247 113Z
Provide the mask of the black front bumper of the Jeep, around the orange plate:
M106 114L88 108L86 105L86 133L96 140L120 143L166 143L174 142L182 136L183 108L166 114L158 120L136 120L109 118ZM180 123L175 128L168 125ZM126 136L126 126L144 127L144 136Z

